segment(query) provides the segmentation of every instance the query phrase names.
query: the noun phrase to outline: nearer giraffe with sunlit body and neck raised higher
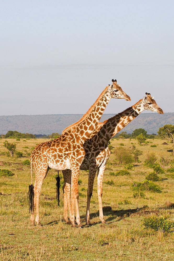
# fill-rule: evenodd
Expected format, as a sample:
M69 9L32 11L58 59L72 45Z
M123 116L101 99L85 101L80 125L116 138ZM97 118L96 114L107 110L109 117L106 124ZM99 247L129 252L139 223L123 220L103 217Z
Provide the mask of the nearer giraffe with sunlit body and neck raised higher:
M29 186L29 211L31 211L31 225L35 222L40 225L39 197L44 178L49 168L55 170L71 169L72 191L70 221L75 227L74 207L76 208L76 222L82 227L78 210L78 174L80 165L85 156L83 144L96 128L104 109L111 98L130 100L130 97L112 80L96 102L89 108L85 115L76 123L66 128L64 134L59 138L38 144L30 156L31 185ZM32 185L32 167L35 170L35 183ZM36 218L35 218L36 208Z

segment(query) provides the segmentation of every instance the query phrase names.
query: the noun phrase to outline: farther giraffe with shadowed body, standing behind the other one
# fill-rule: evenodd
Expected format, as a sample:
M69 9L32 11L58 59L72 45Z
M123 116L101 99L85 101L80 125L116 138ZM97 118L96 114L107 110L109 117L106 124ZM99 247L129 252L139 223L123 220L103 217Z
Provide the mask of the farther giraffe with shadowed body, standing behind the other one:
M88 189L87 189L87 208L86 208L86 224L90 224L89 206L93 191L94 178L97 171L97 192L99 201L99 218L105 223L102 209L102 182L106 162L110 156L108 141L123 129L128 123L136 118L143 110L157 111L163 114L163 111L156 104L154 97L146 92L143 99L139 100L130 108L116 114L114 117L99 122L91 138L87 139L83 144L85 150L85 158L83 159L81 170L89 170ZM64 176L64 220L69 224L67 207L70 207L70 186L71 186L71 170L63 170Z

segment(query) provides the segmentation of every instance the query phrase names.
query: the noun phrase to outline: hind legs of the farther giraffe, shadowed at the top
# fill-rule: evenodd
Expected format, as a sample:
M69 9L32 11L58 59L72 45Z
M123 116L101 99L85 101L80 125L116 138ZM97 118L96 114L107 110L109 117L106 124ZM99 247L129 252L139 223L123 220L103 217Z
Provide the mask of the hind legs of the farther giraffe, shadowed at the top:
M64 186L63 186L63 193L64 193L64 220L69 224L70 221L68 219L68 209L69 215L71 219L71 202L70 202L70 189L71 189L71 170L66 169L62 170L63 177L64 177Z

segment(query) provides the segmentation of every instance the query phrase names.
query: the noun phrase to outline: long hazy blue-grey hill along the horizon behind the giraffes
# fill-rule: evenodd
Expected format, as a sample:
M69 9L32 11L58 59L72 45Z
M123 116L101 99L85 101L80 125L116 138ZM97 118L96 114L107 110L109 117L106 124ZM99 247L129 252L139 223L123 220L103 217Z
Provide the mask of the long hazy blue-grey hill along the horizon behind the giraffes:
M103 114L104 121L115 114ZM51 114L51 115L13 115L0 116L0 134L8 131L18 131L32 134L51 134L61 132L70 124L78 121L82 114ZM130 122L124 131L132 133L134 129L143 128L148 134L156 133L165 124L174 125L174 112L164 114L141 113Z

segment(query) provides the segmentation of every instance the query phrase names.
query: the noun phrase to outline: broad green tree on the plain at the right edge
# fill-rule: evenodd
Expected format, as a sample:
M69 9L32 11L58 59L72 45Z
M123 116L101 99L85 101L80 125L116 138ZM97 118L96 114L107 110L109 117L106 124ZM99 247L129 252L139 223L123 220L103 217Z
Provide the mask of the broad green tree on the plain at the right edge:
M162 138L166 138L167 140L173 142L173 155L174 155L174 125L166 124L163 127L159 128L158 135Z

